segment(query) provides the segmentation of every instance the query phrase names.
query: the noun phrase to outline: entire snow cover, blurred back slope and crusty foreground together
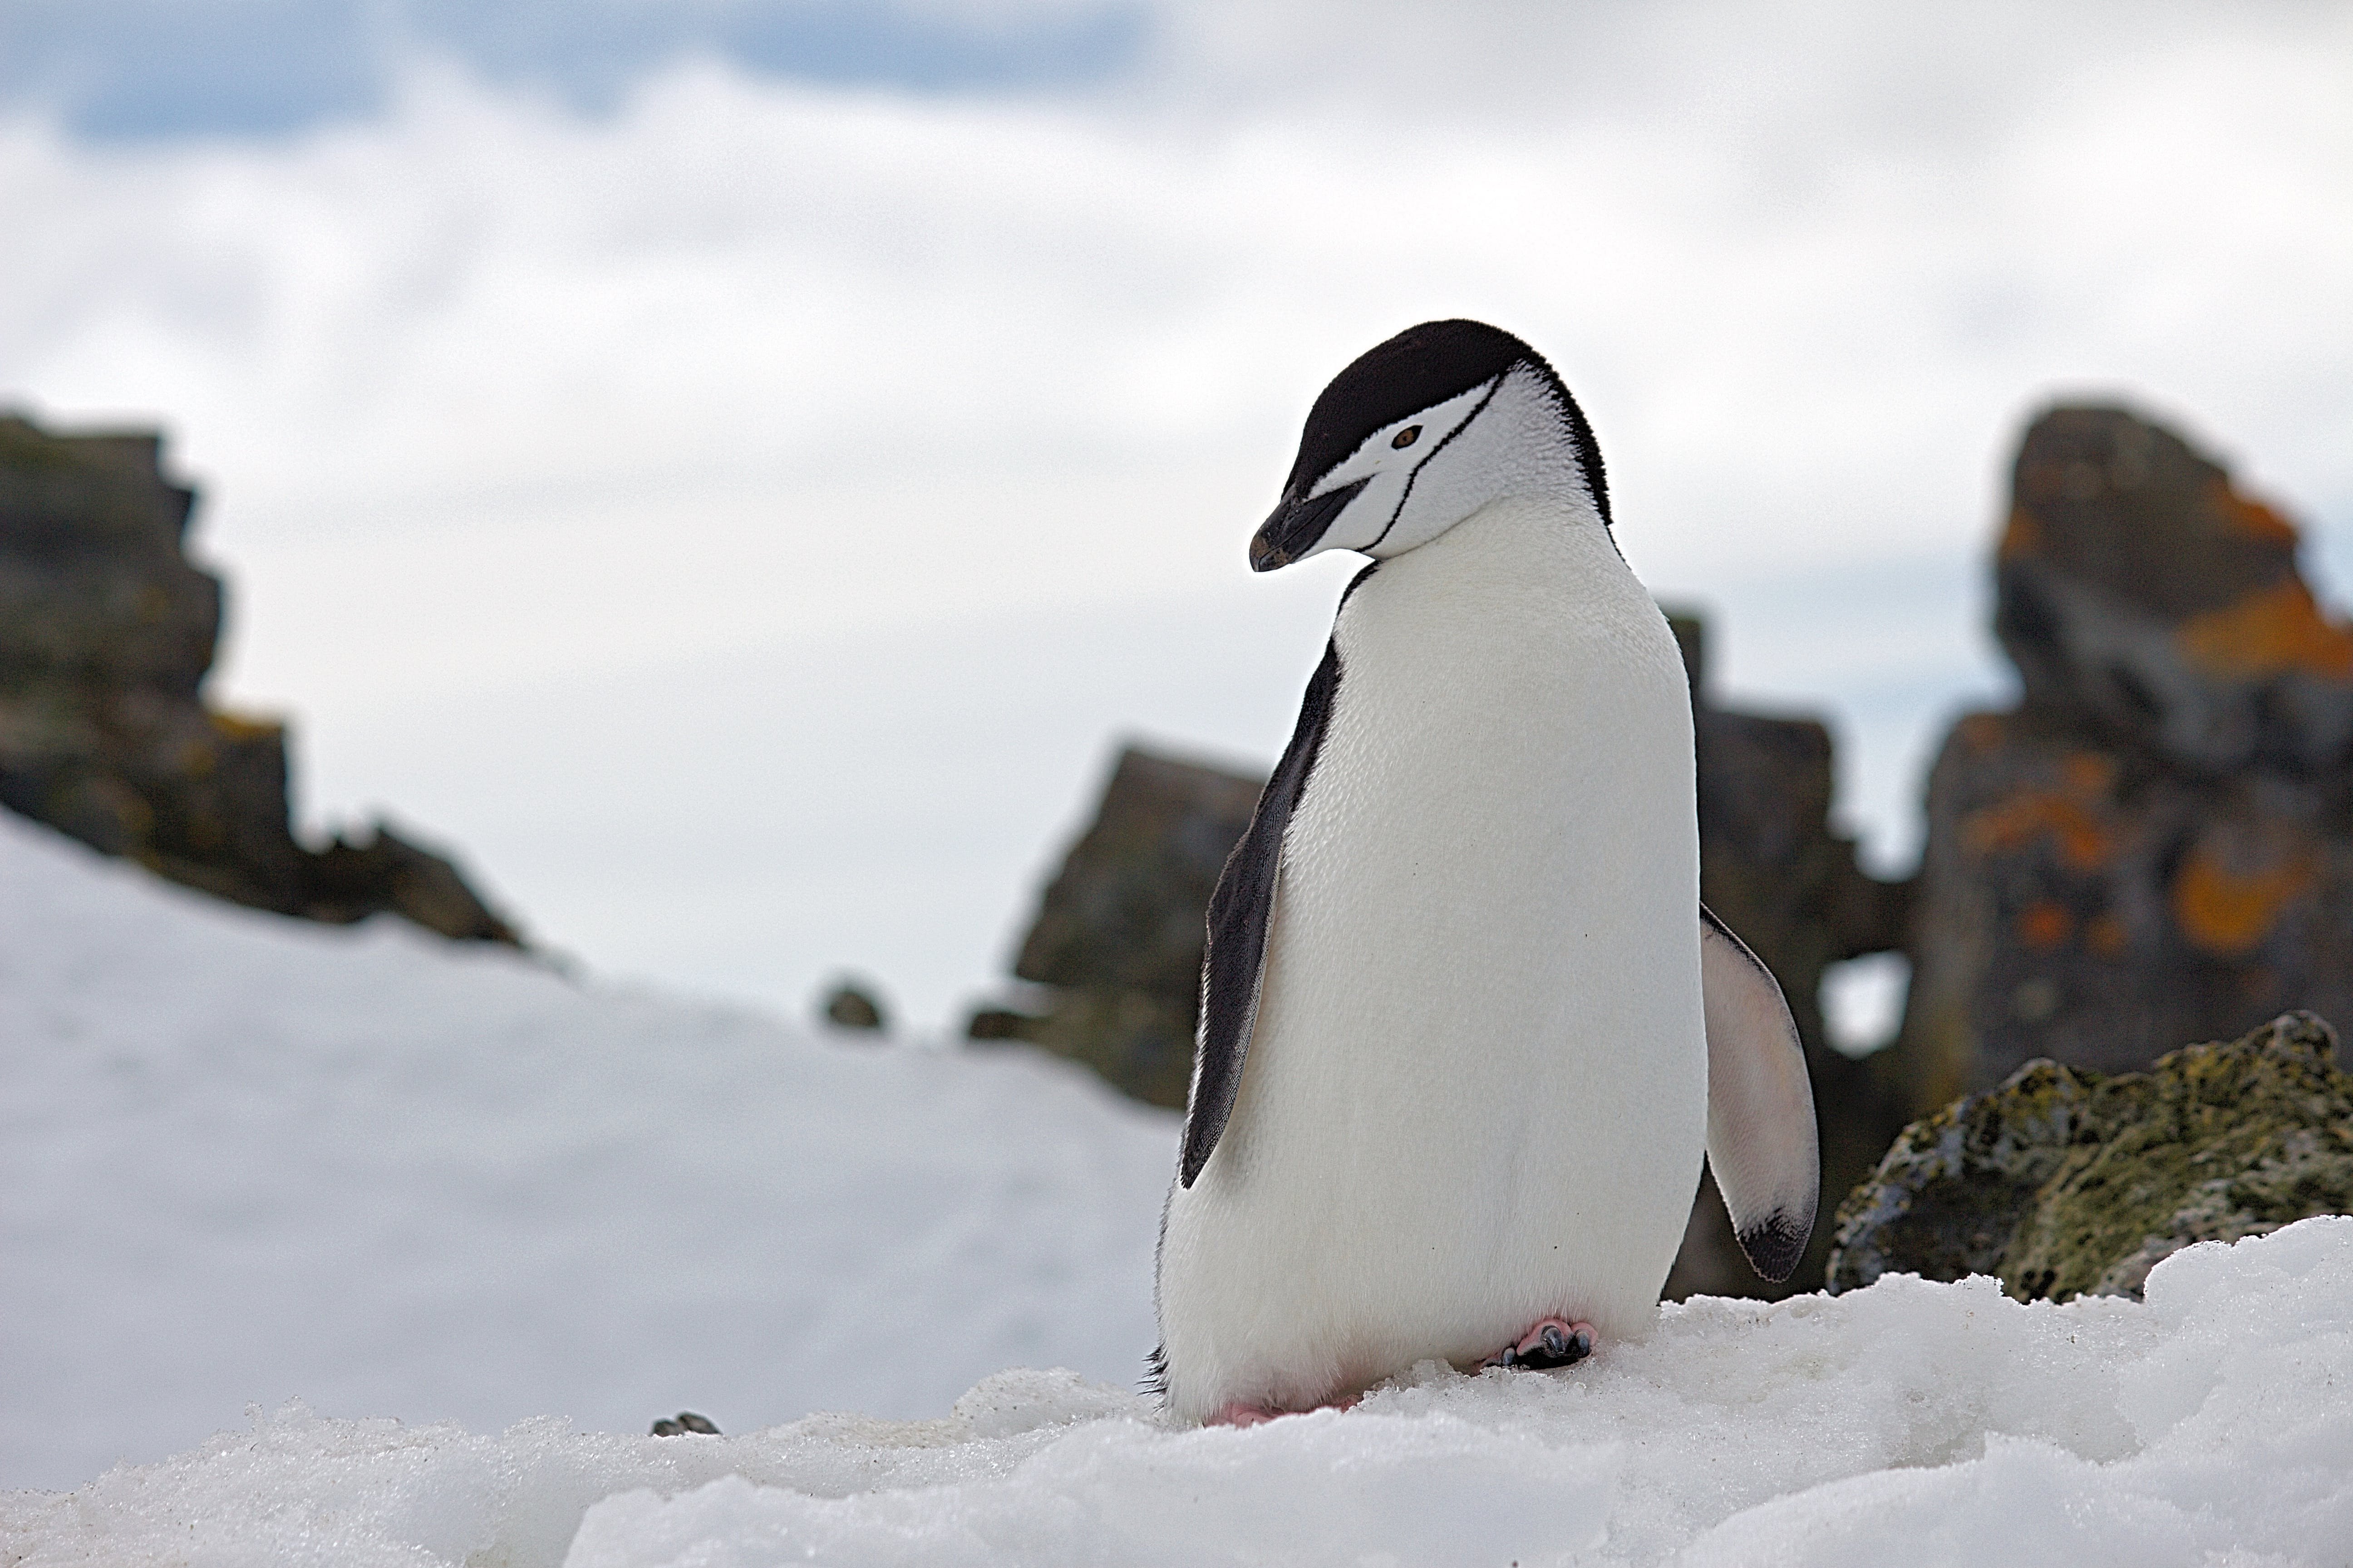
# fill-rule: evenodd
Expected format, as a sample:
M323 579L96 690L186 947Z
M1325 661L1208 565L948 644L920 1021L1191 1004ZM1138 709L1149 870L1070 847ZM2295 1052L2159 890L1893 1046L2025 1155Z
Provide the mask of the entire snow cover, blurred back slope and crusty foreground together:
M1186 1432L1127 1382L1169 1121L1052 1065L259 922L14 825L0 922L0 1420L12 1481L80 1467L0 1497L7 1568L2353 1563L2353 1218L2146 1302L1694 1300ZM532 1399L572 1420L492 1413ZM755 1429L828 1401L868 1413ZM734 1436L642 1436L682 1403ZM89 1479L106 1443L184 1450Z

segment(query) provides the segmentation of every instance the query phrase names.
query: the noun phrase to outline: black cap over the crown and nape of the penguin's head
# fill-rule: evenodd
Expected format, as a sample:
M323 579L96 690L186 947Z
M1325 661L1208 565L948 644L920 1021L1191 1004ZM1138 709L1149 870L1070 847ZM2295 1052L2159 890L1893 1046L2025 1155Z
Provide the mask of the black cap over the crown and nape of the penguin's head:
M1407 327L1386 343L1367 348L1332 386L1315 397L1308 409L1306 430L1299 433L1299 456L1292 461L1292 477L1285 480L1287 496L1304 496L1334 463L1365 444L1374 430L1393 425L1407 414L1428 409L1494 381L1515 364L1537 371L1553 390L1560 418L1577 444L1577 458L1586 470L1593 505L1609 527L1609 482L1602 475L1602 449L1593 442L1593 425L1577 407L1560 374L1534 348L1487 322L1421 322Z

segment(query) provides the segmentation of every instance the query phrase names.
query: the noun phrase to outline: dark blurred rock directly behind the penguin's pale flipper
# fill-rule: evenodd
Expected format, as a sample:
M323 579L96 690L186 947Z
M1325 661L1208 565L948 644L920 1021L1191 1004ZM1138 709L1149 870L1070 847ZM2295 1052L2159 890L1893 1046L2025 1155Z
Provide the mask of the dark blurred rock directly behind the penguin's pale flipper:
M1668 614L1692 677L1699 743L1699 896L1781 980L1805 1039L1821 1128L1824 1192L1861 1180L1904 1126L1868 1063L1828 1044L1821 971L1840 959L1904 943L1911 886L1878 882L1854 858L1854 839L1831 830L1831 731L1809 717L1718 708L1706 684L1706 628ZM1758 1279L1732 1239L1732 1222L1701 1182L1666 1295L1791 1295L1821 1284L1831 1227L1817 1225L1798 1272L1779 1286Z

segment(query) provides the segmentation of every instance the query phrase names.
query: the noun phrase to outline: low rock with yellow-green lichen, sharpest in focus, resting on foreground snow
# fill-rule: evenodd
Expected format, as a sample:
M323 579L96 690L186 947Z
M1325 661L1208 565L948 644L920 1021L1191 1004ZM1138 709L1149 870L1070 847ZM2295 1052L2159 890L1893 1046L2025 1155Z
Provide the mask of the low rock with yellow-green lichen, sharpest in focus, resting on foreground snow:
M2106 1077L2038 1060L1915 1121L1838 1211L1828 1288L1993 1274L2139 1295L2193 1241L2353 1213L2353 1077L2313 1013Z

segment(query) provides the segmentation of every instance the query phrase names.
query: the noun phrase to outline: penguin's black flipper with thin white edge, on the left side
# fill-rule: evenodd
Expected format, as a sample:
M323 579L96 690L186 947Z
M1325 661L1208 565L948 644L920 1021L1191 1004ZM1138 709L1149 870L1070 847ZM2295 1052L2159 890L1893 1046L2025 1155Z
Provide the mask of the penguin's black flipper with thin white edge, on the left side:
M1242 1088L1242 1058L1259 1018L1259 978L1266 969L1266 933L1275 922L1275 872L1282 870L1282 830L1292 825L1299 790L1322 748L1332 698L1339 691L1339 646L1325 644L1322 663L1308 677L1299 724L1282 748L1275 776L1259 795L1249 832L1233 846L1209 896L1209 952L1200 964L1200 1027L1193 1034L1193 1093L1186 1095L1184 1161L1179 1180L1191 1187L1209 1164L1209 1150L1226 1131L1233 1095Z

